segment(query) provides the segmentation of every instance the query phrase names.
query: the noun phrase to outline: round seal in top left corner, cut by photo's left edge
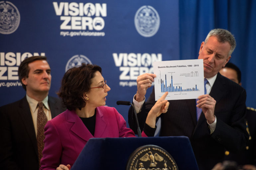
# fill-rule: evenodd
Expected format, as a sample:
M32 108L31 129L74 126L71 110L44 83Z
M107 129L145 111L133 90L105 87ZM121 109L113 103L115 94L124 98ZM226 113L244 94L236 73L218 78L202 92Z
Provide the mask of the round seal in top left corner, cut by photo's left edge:
M11 34L20 25L18 8L9 1L0 1L0 33Z

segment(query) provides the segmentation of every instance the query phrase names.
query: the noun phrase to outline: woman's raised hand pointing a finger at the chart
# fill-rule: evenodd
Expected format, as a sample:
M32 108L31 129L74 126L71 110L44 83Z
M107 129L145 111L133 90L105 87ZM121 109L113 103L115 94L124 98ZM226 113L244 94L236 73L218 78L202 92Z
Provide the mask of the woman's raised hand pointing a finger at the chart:
M168 100L165 100L168 91L166 91L161 98L159 98L155 105L151 108L147 115L146 124L151 128L155 128L156 118L160 116L162 113L166 113L169 107Z

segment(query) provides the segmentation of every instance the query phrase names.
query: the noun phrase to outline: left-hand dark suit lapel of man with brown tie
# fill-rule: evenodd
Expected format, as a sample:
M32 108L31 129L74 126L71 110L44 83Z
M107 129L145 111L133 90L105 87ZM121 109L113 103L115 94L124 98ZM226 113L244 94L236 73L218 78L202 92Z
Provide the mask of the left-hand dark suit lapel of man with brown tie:
M24 123L24 126L38 155L35 127L26 96L20 100L18 114Z

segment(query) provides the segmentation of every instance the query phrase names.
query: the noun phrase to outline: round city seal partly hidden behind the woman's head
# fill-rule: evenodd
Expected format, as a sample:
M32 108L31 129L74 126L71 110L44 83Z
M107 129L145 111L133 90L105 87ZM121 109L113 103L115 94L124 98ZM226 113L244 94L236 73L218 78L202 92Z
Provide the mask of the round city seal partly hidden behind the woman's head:
M65 71L68 71L68 69L72 68L72 67L76 67L76 66L81 66L82 63L85 64L92 64L92 62L84 55L74 55L73 57L71 57L67 64L66 64L66 68Z

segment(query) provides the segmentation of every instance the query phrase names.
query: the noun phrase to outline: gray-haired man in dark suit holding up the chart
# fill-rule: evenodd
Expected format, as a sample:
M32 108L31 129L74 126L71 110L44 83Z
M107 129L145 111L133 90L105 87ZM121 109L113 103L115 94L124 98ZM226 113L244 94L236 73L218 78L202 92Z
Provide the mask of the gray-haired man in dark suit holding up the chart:
M245 90L221 76L236 46L233 35L224 29L213 29L201 43L198 59L203 59L206 94L196 99L169 100L168 111L162 114L159 136L187 136L190 139L200 170L210 170L223 160L226 149L238 151L246 146ZM145 102L145 94L156 75L143 74L137 78L137 93L133 97L135 112L143 127L148 111L155 103L155 91ZM197 121L197 107L201 108ZM128 122L136 132L133 109ZM185 154L185 153L184 153ZM184 160L185 161L185 160Z

